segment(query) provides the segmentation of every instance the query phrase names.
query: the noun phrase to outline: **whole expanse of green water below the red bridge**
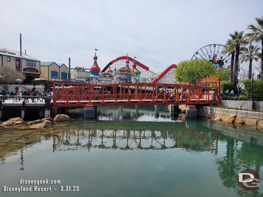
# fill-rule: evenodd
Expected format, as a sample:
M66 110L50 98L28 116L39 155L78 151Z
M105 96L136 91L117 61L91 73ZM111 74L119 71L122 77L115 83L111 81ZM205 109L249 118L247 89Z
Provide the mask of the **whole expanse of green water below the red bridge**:
M185 120L166 106L98 107L96 120L83 120L82 108L67 113L75 121L44 131L0 130L1 197L263 196L262 185L245 191L237 183L247 168L263 179L261 128ZM7 192L4 186L51 191Z

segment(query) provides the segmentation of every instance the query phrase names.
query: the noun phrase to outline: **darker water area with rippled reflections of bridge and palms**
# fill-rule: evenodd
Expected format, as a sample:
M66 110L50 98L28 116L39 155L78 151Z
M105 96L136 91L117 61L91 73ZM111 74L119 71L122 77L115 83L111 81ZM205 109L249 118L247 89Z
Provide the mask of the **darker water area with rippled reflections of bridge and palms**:
M238 195L260 196L259 190L247 192L237 183L237 175L243 169L259 172L262 179L263 134L252 127L222 125L214 121L185 119L183 114L171 117L165 107L121 106L100 107L96 120L81 119L71 109L70 123L54 123L44 130L5 129L0 131L0 165L12 163L16 157L24 170L24 152L28 147L52 140L52 151L97 149L111 151L165 151L180 149L198 154L208 153L214 160L218 175L226 188L233 188ZM158 115L157 115L158 114ZM219 152L221 152L219 154ZM206 156L205 156L206 157ZM192 161L193 162L193 161ZM193 162L194 163L194 162ZM1 166L0 166L1 167Z

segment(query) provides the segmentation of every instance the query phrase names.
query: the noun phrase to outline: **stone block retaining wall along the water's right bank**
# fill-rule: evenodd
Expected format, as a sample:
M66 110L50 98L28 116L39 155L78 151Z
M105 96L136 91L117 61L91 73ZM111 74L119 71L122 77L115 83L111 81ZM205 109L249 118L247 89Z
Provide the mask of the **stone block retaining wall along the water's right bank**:
M247 125L263 126L263 113L251 112L243 110L230 110L218 107L206 107L206 106L196 106L197 116L208 117L209 119L214 119L221 117L222 121L230 115L236 115L241 118Z

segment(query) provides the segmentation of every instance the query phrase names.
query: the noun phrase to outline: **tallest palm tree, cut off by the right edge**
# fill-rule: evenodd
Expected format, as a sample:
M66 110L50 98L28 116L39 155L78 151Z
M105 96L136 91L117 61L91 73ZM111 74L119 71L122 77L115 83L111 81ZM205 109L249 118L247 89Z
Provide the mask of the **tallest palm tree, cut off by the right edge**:
M250 29L251 33L246 34L246 36L251 41L260 42L261 41L261 54L263 54L263 17L255 18L257 21L256 25L250 24L247 25L247 29ZM263 55L261 55L260 62L260 75L263 75Z

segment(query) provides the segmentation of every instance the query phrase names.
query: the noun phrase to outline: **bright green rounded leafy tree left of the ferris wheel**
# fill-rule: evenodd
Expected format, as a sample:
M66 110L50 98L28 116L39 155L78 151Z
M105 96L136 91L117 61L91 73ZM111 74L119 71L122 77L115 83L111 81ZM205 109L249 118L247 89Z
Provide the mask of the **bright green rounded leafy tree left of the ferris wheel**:
M213 74L214 68L211 62L204 59L181 61L175 70L175 79L178 82L196 82Z

